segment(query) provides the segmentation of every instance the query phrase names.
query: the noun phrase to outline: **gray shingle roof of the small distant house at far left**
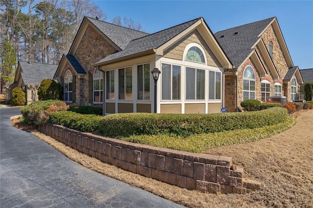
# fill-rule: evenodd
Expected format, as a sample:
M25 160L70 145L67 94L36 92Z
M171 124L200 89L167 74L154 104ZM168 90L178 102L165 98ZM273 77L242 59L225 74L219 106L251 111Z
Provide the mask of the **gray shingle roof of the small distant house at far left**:
M53 76L58 68L58 65L47 63L29 63L21 62L22 79L25 85L32 83L41 83L45 79L53 80Z

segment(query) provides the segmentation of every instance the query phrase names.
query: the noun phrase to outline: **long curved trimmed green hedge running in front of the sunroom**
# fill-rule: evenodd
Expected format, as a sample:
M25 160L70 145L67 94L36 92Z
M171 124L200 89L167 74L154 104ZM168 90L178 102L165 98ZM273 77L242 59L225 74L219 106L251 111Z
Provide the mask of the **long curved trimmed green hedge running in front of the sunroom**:
M188 137L192 134L275 125L285 122L287 117L287 110L281 107L223 114L118 113L102 117L99 134L114 138L142 134Z

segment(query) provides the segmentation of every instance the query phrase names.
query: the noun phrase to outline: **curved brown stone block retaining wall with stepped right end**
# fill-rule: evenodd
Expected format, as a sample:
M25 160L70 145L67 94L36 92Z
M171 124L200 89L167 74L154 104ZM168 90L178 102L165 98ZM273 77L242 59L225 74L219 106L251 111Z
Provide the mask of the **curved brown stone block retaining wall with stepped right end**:
M124 142L45 124L39 129L80 152L125 170L178 187L209 193L246 193L261 183L243 178L232 158Z

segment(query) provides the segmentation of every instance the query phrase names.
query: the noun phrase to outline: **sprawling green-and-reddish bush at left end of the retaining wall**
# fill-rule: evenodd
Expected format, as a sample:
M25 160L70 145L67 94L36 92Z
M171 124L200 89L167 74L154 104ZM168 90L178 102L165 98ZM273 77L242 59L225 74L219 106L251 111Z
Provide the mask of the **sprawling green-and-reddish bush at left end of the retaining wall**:
M68 105L63 101L36 101L28 106L22 107L21 112L25 123L29 125L44 124L51 112L66 111Z

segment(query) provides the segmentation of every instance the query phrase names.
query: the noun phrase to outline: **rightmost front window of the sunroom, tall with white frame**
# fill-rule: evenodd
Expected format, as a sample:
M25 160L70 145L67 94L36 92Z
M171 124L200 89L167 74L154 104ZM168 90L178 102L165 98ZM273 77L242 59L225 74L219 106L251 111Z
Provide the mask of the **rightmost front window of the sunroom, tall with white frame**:
M209 100L221 100L221 72L209 71Z

